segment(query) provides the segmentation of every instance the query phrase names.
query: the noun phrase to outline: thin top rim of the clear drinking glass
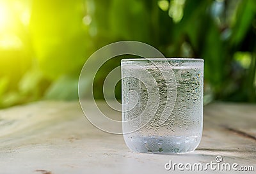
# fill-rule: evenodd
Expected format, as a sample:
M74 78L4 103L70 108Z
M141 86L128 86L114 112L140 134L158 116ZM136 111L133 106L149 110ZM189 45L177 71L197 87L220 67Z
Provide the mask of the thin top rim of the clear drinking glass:
M204 62L204 59L201 58L129 58L122 59L122 62L132 62L132 61L195 61L195 62Z

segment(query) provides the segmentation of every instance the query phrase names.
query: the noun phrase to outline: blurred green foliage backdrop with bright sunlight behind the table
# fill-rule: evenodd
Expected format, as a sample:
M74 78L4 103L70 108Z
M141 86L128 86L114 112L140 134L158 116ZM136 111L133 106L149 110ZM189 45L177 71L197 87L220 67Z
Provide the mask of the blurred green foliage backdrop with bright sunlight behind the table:
M77 99L86 59L122 40L203 57L205 103L256 101L255 0L0 0L0 107ZM97 99L119 61L97 74Z

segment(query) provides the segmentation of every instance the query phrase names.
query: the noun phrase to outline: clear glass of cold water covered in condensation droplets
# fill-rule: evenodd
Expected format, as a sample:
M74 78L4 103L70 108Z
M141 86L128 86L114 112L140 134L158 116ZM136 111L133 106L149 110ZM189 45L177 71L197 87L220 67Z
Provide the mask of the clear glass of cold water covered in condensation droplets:
M122 127L130 150L186 153L203 128L204 60L123 59Z

